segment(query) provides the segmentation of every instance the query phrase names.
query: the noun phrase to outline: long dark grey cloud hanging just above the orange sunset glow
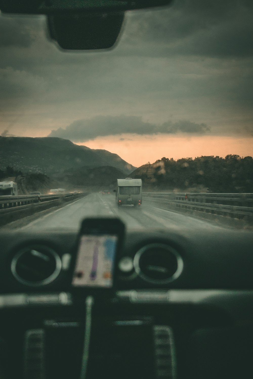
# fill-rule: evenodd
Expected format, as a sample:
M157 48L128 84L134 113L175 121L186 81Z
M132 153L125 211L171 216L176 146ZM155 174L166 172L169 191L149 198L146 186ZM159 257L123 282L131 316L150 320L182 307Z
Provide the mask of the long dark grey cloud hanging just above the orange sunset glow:
M90 120L76 120L65 129L52 130L48 137L61 137L74 142L83 142L101 136L119 134L154 135L158 133L175 134L178 132L204 134L209 131L206 124L190 121L164 122L162 125L143 122L137 116L97 116Z

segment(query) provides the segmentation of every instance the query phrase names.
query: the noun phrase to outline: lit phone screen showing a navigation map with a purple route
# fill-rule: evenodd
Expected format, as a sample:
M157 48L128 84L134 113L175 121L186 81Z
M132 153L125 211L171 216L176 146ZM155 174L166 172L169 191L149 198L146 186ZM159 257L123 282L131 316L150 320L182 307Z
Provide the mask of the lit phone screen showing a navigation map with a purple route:
M111 288L118 235L80 236L73 286Z

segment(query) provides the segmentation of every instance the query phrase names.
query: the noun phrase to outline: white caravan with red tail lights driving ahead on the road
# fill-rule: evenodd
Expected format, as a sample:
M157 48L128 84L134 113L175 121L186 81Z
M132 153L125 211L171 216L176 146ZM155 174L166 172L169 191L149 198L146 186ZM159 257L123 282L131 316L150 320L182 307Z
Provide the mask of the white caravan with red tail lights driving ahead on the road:
M117 179L116 204L121 205L141 205L142 183L141 179Z

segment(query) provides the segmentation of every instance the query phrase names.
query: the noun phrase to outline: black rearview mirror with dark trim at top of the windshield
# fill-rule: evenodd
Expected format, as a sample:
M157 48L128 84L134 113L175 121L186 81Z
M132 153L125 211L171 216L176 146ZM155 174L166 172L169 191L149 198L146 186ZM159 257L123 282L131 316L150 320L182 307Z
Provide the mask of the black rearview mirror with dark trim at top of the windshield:
M2 13L46 14L49 35L62 49L112 47L124 12L164 6L172 0L0 0Z

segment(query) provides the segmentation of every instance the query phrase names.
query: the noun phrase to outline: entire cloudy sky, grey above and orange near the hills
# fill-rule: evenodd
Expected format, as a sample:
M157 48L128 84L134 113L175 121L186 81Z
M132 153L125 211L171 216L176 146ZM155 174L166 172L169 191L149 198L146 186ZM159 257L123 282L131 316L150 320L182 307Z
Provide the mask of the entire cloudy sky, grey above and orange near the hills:
M131 11L115 48L64 52L44 16L0 16L0 134L58 136L140 166L253 155L253 2Z

